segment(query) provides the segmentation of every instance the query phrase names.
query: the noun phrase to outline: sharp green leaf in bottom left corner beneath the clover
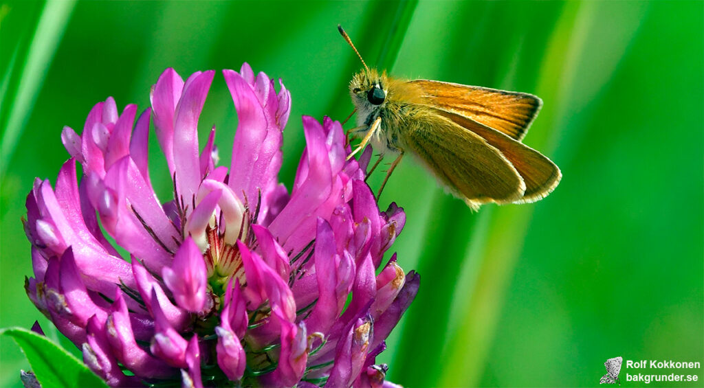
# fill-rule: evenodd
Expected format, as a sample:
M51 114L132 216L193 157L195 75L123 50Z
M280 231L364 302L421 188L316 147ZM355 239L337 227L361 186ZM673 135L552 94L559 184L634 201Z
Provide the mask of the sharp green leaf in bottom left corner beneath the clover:
M107 387L107 384L72 354L43 335L23 328L0 330L12 337L27 356L42 387ZM18 371L19 374L19 371Z

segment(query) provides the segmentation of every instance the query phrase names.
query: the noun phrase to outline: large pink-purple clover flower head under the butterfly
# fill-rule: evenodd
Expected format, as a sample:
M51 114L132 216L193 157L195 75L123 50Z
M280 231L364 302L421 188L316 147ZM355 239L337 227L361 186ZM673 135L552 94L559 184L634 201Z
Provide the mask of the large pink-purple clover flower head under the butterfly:
M27 295L111 386L392 385L375 357L420 279L395 254L383 262L406 216L379 211L370 150L346 160L339 122L303 117L289 194L277 174L290 93L245 63L223 71L239 124L230 169L218 166L215 128L202 151L197 136L214 74L166 70L136 124L136 105L118 114L108 98L81 136L64 128L71 158L54 188L37 179L27 196ZM165 203L151 119L173 183Z

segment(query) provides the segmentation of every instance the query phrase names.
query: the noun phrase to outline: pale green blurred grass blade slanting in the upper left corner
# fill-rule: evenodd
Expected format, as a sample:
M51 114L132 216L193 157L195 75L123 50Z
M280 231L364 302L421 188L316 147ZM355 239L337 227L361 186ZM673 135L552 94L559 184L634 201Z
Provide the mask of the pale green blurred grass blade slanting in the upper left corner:
M20 79L15 95L3 96L0 116L7 117L7 124L0 145L0 176L4 176L27 118L32 113L34 101L37 100L51 59L54 57L58 42L61 41L75 3L73 0L46 2L37 23L37 29L34 30L27 58L18 68ZM8 66L8 72L12 71L12 66ZM4 79L6 77L8 78L8 75L3 76Z

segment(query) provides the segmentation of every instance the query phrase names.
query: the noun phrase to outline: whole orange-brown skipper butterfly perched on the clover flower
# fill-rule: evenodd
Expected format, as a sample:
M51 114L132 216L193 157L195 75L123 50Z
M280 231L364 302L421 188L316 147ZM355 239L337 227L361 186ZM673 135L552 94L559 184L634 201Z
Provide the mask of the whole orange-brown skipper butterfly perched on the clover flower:
M358 124L351 134L363 138L350 157L367 143L382 156L398 155L379 193L405 153L415 155L472 209L489 202L535 202L558 185L562 174L555 163L521 142L538 115L540 98L389 77L367 67L346 32L338 29L365 67L349 86Z

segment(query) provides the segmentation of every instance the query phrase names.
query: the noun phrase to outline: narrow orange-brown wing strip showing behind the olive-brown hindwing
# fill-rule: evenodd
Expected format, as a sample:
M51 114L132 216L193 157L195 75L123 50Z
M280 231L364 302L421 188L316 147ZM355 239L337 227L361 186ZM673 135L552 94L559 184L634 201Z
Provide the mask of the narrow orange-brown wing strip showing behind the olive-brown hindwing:
M523 197L515 202L535 202L545 198L555 186L558 186L562 177L560 169L538 151L470 117L446 110L434 109L434 111L482 137L486 143L494 146L513 164L526 186Z

